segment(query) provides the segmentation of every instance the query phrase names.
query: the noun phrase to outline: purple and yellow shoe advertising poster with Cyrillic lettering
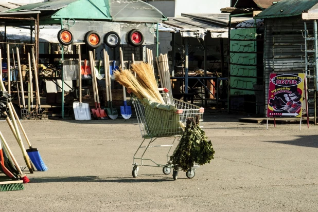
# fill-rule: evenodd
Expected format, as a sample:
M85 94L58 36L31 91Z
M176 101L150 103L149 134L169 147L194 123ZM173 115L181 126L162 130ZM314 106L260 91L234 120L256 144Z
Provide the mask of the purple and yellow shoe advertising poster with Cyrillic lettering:
M301 117L304 73L271 73L267 117Z

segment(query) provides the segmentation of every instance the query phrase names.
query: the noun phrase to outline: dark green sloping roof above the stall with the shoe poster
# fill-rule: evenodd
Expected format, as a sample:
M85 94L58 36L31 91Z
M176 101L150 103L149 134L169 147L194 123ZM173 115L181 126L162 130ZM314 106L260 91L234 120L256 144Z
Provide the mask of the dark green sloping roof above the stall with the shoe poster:
M254 16L254 19L297 16L316 4L318 0L281 0Z

